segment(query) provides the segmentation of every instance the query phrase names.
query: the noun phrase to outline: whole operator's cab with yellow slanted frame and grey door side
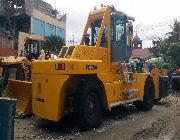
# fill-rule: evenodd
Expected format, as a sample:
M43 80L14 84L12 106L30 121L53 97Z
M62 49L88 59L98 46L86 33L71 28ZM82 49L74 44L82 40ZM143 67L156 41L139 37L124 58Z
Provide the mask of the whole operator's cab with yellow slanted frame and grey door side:
M128 62L132 52L134 18L114 7L109 7L105 15L101 12L90 13L81 45L109 47L111 62Z

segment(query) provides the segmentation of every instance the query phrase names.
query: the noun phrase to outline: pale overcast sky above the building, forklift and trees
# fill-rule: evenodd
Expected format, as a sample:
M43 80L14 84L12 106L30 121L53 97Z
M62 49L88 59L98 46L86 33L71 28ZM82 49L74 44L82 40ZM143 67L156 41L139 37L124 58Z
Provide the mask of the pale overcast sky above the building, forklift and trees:
M144 47L151 45L156 36L168 32L172 19L180 18L180 0L44 0L67 14L66 41L79 42L89 11L101 4L114 5L117 10L135 17L135 29ZM56 4L55 4L56 3ZM56 5L56 6L55 6Z

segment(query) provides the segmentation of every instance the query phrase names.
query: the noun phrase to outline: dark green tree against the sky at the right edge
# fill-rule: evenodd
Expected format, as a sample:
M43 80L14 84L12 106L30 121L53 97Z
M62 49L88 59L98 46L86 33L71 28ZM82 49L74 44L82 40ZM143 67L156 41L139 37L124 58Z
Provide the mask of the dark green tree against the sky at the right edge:
M173 66L180 66L180 22L175 20L171 26L172 31L166 34L166 38L158 38L152 41L150 52L154 57L164 56Z

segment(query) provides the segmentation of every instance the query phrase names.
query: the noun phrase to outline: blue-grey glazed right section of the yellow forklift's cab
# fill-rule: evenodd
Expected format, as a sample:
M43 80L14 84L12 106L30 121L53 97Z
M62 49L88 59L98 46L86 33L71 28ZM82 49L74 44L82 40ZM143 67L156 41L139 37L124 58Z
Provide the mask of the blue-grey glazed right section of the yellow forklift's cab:
M124 13L114 12L111 15L111 61L128 62L132 54L133 18Z

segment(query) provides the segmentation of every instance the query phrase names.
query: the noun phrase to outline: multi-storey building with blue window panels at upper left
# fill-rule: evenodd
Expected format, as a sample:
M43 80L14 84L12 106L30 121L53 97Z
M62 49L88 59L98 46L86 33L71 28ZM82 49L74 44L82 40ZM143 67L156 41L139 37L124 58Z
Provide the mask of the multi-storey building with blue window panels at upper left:
M0 0L0 34L8 36L6 41L4 36L0 37L1 50L6 44L6 48L20 52L23 48L19 45L23 44L19 42L23 40L19 38L20 32L41 38L57 35L66 41L66 14L59 14L42 0L12 0L11 3Z

